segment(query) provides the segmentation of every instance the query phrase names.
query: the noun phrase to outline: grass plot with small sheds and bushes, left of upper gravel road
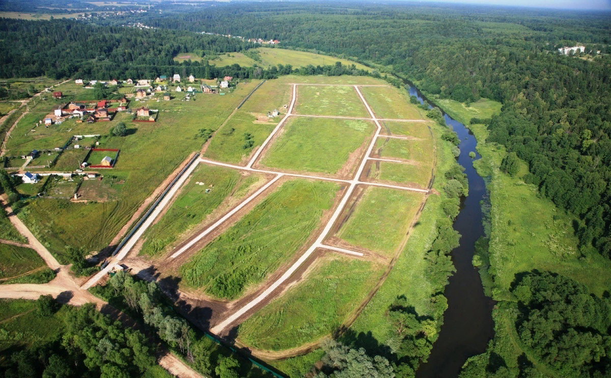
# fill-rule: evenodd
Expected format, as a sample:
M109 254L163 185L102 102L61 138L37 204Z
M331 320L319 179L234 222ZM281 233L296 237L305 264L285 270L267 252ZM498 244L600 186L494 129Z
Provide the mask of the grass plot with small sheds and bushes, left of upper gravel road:
M266 81L214 134L204 156L245 165L248 157L266 140L287 112L284 105L290 104L292 93L290 85L278 80ZM268 118L267 113L275 109L280 116ZM246 145L244 134L252 136L252 146Z

